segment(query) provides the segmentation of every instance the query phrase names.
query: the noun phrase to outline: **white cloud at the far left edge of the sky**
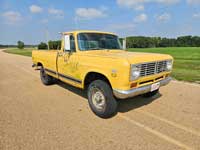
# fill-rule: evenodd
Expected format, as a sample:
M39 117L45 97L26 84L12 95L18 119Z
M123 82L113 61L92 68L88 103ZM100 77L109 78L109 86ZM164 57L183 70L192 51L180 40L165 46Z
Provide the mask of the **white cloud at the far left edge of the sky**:
M2 14L6 24L16 24L22 20L22 16L16 11L7 11Z

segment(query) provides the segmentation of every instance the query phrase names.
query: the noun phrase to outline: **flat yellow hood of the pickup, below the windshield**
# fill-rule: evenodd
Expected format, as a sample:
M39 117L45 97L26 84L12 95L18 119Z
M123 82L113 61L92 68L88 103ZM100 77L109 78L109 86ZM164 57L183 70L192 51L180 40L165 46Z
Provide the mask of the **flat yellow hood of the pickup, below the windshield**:
M143 52L128 52L124 50L92 50L84 51L84 55L92 57L107 57L112 59L127 59L130 64L172 59L170 55Z

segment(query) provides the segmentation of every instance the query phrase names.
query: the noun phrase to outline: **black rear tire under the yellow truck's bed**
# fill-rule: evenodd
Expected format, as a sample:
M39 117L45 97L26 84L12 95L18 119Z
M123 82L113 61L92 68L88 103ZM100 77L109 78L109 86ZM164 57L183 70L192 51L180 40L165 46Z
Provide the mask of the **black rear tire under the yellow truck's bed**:
M52 76L46 74L43 67L40 69L40 78L44 85L52 85L55 82L55 79Z

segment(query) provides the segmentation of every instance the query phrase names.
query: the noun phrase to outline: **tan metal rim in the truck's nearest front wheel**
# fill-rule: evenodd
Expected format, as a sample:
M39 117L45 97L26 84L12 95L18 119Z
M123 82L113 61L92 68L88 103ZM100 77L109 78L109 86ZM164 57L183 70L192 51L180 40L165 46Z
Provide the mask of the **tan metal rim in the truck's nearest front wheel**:
M97 87L91 89L92 103L98 110L103 110L105 108L106 99L103 92Z

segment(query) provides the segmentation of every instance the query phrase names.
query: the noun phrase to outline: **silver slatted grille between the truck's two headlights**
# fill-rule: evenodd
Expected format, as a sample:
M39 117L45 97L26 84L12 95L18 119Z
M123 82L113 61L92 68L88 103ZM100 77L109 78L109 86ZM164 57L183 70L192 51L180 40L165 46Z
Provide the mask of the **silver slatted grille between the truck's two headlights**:
M148 76L166 71L167 61L141 64L140 76Z

